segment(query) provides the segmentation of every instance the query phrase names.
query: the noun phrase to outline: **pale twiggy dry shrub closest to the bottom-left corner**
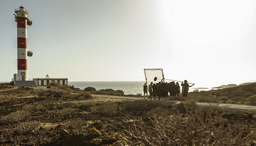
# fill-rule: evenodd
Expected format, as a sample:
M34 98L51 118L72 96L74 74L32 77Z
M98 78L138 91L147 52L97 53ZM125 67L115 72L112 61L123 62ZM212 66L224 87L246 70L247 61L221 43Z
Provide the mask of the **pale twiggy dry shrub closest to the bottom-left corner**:
M19 126L16 126L14 131L18 133L31 133L36 130L40 122L38 121L33 121L33 122L21 122Z

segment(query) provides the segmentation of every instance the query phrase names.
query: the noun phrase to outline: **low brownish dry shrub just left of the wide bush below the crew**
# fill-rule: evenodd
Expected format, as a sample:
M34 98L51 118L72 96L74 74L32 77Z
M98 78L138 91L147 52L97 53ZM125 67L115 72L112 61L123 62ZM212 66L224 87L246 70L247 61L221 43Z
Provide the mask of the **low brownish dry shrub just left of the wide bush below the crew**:
M117 111L117 104L115 103L105 103L104 105L91 107L91 113L111 113Z

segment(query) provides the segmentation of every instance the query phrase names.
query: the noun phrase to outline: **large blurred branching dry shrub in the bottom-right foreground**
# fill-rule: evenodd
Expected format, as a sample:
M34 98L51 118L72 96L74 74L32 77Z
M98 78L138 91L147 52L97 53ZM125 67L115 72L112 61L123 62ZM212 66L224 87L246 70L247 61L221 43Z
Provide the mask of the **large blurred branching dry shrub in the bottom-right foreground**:
M132 138L138 139L135 143L122 136L118 144L124 146L141 145L172 145L172 146L245 146L255 142L256 130L249 134L244 133L244 127L240 127L236 132L233 127L227 126L227 120L221 118L217 112L208 111L202 114L194 110L186 115L173 117L155 117L152 126L147 127L143 120L134 120L134 128L126 130ZM215 115L213 117L212 115ZM132 130L134 129L134 130ZM147 129L147 130L145 130Z

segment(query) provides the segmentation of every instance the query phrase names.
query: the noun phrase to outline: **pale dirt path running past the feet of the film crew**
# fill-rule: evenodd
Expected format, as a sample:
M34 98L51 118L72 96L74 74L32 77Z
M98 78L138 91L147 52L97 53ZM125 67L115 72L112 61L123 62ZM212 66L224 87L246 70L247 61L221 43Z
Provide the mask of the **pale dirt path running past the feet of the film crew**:
M136 97L123 97L123 96L113 96L113 95L97 95L92 94L93 97L101 97L101 98L115 98L115 99L130 99L130 100L145 100L144 98L136 98ZM167 101L170 104L180 104L180 101ZM199 105L206 105L207 103L198 103ZM229 108L229 109L246 109L246 110L256 110L256 106L248 106L248 105L236 105L236 104L214 104L219 105L219 107Z

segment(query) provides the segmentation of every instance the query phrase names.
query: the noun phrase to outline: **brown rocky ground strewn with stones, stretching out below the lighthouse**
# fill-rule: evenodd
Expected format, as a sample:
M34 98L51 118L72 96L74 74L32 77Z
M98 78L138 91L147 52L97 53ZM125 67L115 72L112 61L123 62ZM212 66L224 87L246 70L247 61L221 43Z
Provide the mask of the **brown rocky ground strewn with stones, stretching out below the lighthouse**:
M129 126L133 127L133 119L141 117L145 125L151 125L152 122L144 111L124 111L123 105L128 101L133 100L102 97L84 100L46 98L38 96L32 88L0 85L0 145L114 145L121 133L136 142L138 140L130 137L126 131ZM118 108L110 113L91 113L88 104L92 103L96 103L96 106L115 103ZM76 111L65 113L64 109ZM169 104L168 109L170 115L176 114L178 104ZM11 117L23 114L17 111L26 111L28 116ZM245 126L245 134L256 128L256 119L248 110L225 108L221 112L228 120L227 124L237 131L242 125ZM82 125L72 125L72 122ZM22 131L22 127L28 126L28 123L32 125L31 130Z

